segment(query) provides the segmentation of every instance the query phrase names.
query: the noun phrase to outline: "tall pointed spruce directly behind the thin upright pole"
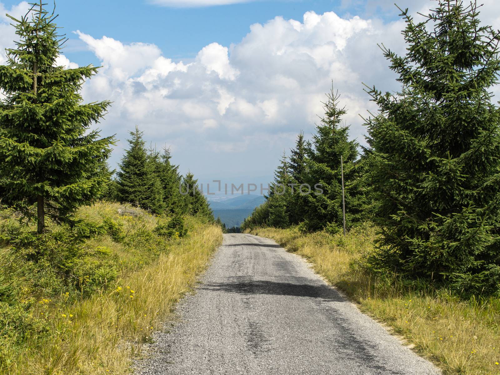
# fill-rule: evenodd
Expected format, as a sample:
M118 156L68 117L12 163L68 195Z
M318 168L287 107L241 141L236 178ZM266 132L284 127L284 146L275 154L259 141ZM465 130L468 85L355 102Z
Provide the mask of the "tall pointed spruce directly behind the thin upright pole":
M316 125L312 144L307 147L306 173L304 183L311 192L298 195L297 204L304 210L304 228L318 230L327 226L338 230L342 225L342 188L340 156L343 157L345 181L346 225L363 220L361 213L362 193L352 183L355 179L354 161L358 156L358 143L348 140L349 126L342 124L345 107L339 107L339 94L331 88L323 102L324 116ZM317 194L314 186L319 183L323 193ZM336 228L336 229L335 229Z

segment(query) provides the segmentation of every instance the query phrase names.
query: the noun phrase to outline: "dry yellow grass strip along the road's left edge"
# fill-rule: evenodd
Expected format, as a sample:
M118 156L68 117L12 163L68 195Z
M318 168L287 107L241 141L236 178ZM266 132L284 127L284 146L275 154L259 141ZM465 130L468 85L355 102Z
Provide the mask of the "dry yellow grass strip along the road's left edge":
M101 212L107 208L109 214L116 212L114 205L101 206ZM93 210L85 208L80 214L88 217ZM154 223L153 217L143 222L151 228ZM73 304L38 303L34 313L48 314L51 335L42 345L36 336L30 337L25 352L5 373L128 373L131 358L150 340L151 331L170 318L175 302L190 290L221 243L220 227L195 219L189 219L189 226L188 237L172 243L168 252L142 269L123 275L114 290ZM106 245L119 246L111 241Z

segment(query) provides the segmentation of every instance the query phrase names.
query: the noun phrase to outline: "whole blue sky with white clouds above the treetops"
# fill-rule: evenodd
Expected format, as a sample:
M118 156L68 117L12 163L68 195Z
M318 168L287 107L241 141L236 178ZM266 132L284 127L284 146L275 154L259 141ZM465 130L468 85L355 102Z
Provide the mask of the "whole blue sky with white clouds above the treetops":
M110 164L137 125L148 145L170 147L180 171L200 181L266 182L296 134L314 132L333 85L346 106L350 137L364 143L363 119L376 107L363 82L397 90L377 43L404 53L404 21L393 0L58 0L69 40L66 67L94 64L84 101L112 100L96 125L116 134ZM480 18L500 28L500 1L483 0ZM401 0L428 13L430 0ZM15 34L0 0L0 63ZM495 88L496 91L496 88Z

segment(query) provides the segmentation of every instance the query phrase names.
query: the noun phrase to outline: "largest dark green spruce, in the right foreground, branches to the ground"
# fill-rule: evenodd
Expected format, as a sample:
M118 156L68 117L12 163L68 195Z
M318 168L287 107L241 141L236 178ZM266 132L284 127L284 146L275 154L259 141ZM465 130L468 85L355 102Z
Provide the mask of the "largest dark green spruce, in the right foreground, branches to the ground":
M467 3L469 4L469 3ZM382 237L377 269L469 293L500 287L498 32L473 2L437 1L422 22L408 10L405 56L382 46L401 91L369 93L367 122Z

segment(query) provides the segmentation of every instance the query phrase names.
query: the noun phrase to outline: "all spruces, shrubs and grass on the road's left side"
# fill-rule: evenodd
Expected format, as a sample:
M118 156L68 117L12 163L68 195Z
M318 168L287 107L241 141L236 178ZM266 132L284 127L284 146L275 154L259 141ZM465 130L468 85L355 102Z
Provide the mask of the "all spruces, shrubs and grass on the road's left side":
M115 140L94 126L111 103L82 102L96 67L57 66L44 5L12 18L0 65L0 374L129 373L222 227L138 128L109 169Z

